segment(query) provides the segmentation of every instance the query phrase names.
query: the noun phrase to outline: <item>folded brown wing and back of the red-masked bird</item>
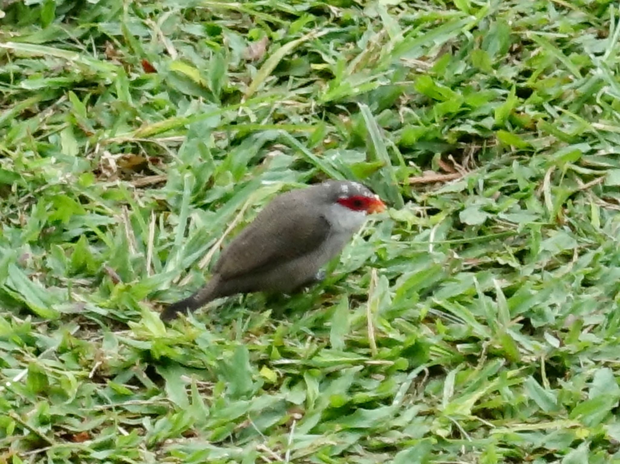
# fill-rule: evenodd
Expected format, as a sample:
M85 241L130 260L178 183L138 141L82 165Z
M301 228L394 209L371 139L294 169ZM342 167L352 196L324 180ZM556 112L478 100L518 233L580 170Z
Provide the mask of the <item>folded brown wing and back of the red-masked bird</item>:
M265 272L319 247L329 222L296 194L273 199L224 249L213 271L224 280Z

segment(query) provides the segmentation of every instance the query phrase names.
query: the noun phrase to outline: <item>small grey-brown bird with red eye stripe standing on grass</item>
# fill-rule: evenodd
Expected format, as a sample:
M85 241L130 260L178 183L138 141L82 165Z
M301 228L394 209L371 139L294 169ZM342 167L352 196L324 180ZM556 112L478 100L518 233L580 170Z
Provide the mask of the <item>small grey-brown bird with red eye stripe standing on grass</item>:
M360 230L366 214L386 208L357 182L329 180L276 196L224 248L213 277L169 305L161 319L194 311L216 298L258 291L294 292L321 281L321 266Z

